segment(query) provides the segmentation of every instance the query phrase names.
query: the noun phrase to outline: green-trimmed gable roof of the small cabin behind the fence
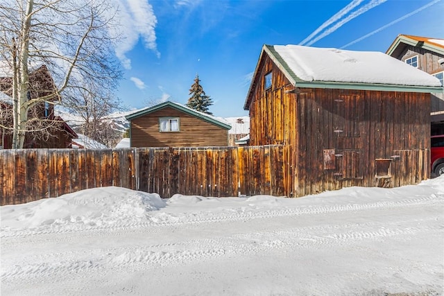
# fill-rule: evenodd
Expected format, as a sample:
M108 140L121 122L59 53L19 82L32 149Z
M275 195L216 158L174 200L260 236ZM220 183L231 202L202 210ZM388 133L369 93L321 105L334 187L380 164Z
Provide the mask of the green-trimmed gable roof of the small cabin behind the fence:
M217 119L214 116L211 116L209 114L205 114L203 112L198 112L198 111L191 109L185 105L170 102L170 101L160 103L160 104L155 105L153 107L147 107L142 110L138 110L138 111L134 112L133 114L126 115L125 118L128 119L128 121L132 121L133 119L137 119L140 116L144 116L146 114L156 112L158 110L164 109L165 107L171 107L171 108L179 110L181 112L185 112L186 114L197 117L198 119L202 119L203 121L207 121L208 123L212 123L212 124L217 125L221 128L225 128L225 130L230 130L230 128L231 128L231 126L228 123L225 123L225 122Z

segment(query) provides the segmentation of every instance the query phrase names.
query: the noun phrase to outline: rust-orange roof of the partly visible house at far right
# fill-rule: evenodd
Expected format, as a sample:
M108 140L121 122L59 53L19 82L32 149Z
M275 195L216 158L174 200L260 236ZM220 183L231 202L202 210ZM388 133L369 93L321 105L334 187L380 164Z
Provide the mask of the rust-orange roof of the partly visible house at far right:
M397 57L407 46L416 46L444 55L444 39L400 34L388 47L386 53Z

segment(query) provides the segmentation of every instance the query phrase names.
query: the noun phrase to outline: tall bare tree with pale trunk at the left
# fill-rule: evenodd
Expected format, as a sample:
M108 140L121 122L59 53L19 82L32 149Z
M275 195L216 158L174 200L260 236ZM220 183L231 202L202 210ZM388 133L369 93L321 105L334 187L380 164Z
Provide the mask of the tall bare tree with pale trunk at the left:
M105 0L0 0L0 66L10 77L12 148L23 148L26 132L48 128L31 110L39 105L80 105L78 94L93 100L115 87L121 76L112 54L115 8ZM33 70L45 65L50 86L32 80ZM80 100L80 101L79 101ZM47 119L46 119L47 120Z

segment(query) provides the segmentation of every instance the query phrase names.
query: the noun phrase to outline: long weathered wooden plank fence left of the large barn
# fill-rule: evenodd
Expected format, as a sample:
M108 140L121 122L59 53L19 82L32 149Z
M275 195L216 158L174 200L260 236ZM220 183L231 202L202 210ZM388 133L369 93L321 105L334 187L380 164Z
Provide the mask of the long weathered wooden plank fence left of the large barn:
M291 147L0 150L1 205L101 186L214 197L292 193Z

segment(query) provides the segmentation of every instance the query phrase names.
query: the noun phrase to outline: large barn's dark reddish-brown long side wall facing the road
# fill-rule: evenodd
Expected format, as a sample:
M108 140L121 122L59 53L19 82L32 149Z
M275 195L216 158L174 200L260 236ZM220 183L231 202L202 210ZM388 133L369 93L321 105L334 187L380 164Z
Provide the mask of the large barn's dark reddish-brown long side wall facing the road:
M294 96L300 114L296 196L429 177L429 94L313 89ZM325 169L328 149L335 151L335 166ZM377 176L377 164L387 160L386 174Z

